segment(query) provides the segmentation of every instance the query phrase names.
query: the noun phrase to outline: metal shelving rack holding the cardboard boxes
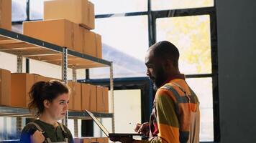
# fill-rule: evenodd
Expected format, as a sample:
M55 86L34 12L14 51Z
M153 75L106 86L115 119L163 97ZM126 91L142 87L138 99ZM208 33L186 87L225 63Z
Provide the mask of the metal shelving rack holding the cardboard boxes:
M73 81L76 81L76 69L90 69L94 67L109 66L110 69L110 96L111 113L94 113L99 118L111 118L112 131L114 132L114 84L113 84L113 64L111 61L99 59L87 54L81 54L66 47L57 46L39 39L35 39L23 34L18 34L6 29L0 29L0 51L17 55L17 72L22 72L22 58L35 59L62 67L62 80L67 84L68 68L73 69ZM17 107L0 106L1 117L31 117L29 110ZM68 118L89 119L85 112L68 111L63 124L68 125ZM75 127L75 135L77 133Z

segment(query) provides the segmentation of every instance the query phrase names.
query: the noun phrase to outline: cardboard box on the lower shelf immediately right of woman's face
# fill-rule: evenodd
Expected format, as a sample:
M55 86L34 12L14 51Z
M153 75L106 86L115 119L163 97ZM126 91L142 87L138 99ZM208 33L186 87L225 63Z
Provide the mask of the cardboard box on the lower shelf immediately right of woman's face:
M70 97L68 108L70 110L81 111L81 83L68 82L70 87Z

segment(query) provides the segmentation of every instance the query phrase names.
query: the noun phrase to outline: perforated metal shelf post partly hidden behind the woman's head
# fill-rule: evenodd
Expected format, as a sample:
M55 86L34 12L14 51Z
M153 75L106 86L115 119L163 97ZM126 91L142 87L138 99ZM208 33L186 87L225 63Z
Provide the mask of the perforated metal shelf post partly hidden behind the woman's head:
M63 47L63 56L62 56L62 62L61 62L61 69L62 69L62 79L65 84L68 84L68 49L66 47ZM68 111L65 114L65 117L63 119L63 124L68 127Z

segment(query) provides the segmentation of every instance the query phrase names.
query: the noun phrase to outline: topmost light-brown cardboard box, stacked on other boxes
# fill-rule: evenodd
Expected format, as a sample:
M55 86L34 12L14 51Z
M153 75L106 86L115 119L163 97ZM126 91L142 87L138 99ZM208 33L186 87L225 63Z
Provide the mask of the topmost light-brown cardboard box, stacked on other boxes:
M86 29L94 29L94 5L87 0L44 1L44 20L48 19L68 19Z

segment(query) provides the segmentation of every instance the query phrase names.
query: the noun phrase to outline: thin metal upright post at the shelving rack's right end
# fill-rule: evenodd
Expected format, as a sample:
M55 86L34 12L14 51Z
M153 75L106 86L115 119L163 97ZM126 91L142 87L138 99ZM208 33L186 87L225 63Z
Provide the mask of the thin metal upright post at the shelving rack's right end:
M113 62L111 61L110 65L110 99L111 99L111 112L113 114L112 117L112 132L115 132L115 127L114 127L114 82L113 82Z

